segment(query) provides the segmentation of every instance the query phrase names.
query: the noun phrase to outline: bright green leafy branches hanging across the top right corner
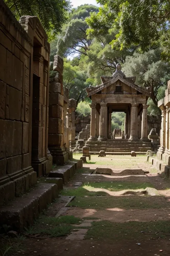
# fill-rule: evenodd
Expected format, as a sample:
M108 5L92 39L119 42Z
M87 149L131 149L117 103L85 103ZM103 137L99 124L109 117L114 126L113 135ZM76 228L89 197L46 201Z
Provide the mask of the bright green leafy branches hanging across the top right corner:
M167 0L98 0L103 5L98 14L92 14L87 23L91 36L111 28L118 29L113 47L131 44L142 50L161 44L165 56L170 55L170 4Z

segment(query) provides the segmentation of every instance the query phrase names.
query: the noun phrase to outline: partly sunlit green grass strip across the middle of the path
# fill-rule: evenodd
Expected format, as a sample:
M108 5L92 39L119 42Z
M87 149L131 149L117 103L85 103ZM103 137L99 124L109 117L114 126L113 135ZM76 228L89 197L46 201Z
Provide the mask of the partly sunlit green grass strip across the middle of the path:
M151 183L144 182L144 183L129 183L125 181L106 181L106 182L90 182L84 183L82 187L77 189L63 189L61 194L63 196L106 196L108 195L107 192L98 191L96 192L95 189L107 189L109 191L121 191L121 190L133 190L133 189L146 189L147 187L153 188L154 186Z

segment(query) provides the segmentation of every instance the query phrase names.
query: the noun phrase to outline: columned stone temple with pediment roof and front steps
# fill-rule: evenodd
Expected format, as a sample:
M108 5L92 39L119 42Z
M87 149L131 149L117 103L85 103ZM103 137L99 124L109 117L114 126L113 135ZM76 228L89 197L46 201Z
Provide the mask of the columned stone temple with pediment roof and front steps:
M91 152L98 153L101 149L108 153L146 152L151 148L147 133L147 99L150 93L134 84L136 77L126 77L121 71L121 65L113 76L102 76L102 84L96 87L86 88L88 97L92 103L90 138L86 146ZM124 134L126 139L111 139L111 114L112 112L124 112ZM138 133L138 116L142 115L141 133ZM119 145L118 145L118 144Z

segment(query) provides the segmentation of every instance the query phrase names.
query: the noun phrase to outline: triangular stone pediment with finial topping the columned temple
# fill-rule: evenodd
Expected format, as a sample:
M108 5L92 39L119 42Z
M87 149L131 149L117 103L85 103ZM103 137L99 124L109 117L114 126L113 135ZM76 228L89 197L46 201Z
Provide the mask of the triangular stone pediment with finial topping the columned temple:
M120 64L119 64L120 65ZM113 76L102 76L102 84L96 87L86 88L88 96L96 93L101 94L143 94L150 97L150 92L134 84L136 77L126 77L124 73L117 69Z

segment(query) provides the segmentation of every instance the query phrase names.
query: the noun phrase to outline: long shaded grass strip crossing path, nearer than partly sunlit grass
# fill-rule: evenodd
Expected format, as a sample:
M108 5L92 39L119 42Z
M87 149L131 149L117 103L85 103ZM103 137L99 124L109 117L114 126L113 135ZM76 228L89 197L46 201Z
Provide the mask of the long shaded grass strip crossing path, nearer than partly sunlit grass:
M103 196L103 197L76 197L69 206L85 209L108 209L121 208L128 209L151 209L151 208L169 208L167 201L161 196Z

